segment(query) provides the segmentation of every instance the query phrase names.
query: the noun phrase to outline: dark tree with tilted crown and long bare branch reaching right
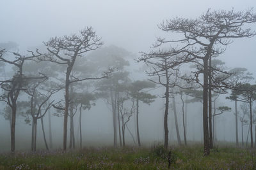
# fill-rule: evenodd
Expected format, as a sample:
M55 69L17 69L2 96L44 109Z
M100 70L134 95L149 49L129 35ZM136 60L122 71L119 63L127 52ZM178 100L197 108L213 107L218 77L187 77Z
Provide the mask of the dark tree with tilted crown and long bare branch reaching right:
M72 76L72 69L78 57L83 57L84 53L96 50L102 46L100 38L97 37L92 27L87 27L79 32L79 34L72 34L70 36L63 36L61 38L51 38L45 42L48 53L41 60L49 60L56 64L66 66L65 73L65 110L64 110L64 125L63 125L63 150L67 149L67 122L69 110L69 87L72 83L84 80L98 80L100 78L108 77L108 73L104 73L100 77L93 78L77 78ZM110 71L110 70L109 70ZM111 72L111 71L110 71ZM70 80L70 77L73 80Z

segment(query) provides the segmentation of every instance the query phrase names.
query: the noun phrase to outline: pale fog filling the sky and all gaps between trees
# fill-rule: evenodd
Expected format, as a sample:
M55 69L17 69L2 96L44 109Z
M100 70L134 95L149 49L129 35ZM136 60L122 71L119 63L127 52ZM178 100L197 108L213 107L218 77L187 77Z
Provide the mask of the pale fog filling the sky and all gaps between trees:
M164 34L157 25L161 24L166 19L175 17L184 18L196 18L200 17L202 13L205 13L209 8L211 10L232 10L245 11L256 6L255 0L215 0L215 1L173 1L173 0L159 0L159 1L0 1L0 50L6 48L4 43L14 42L17 43L17 48L8 50L10 59L13 59L10 52L19 52L22 55L28 54L26 50L35 50L39 48L42 53L46 52L46 48L43 42L49 41L52 37L61 37L65 35L78 34L79 31L86 27L92 26L93 31L97 36L101 38L103 45L99 49L92 50L92 52L86 52L83 57L84 60L80 60L80 63L84 63L84 70L90 72L90 67L94 67L90 64L96 62L94 71L90 76L100 77L103 71L106 71L108 67L111 67L111 63L115 62L113 57L103 60L106 53L111 53L111 56L118 55L126 62L129 62L129 66L124 66L123 71L129 72L129 79L131 81L136 80L148 80L154 78L148 76L146 71L150 69L143 62L137 62L141 56L141 52L150 52L152 45L156 42L159 36L168 36ZM254 9L255 12L255 9ZM255 24L249 25L252 30L256 30ZM174 38L179 38L174 36ZM256 36L253 38L237 38L232 39L232 44L227 45L227 50L218 57L218 59L225 62L227 69L234 67L244 67L248 69L248 72L252 73L255 77L255 41ZM115 54L120 50L120 53ZM119 56L120 55L120 56ZM93 58L94 57L94 58ZM108 57L108 56L107 56ZM95 60L93 60L95 59ZM101 60L102 61L99 61ZM112 61L113 60L113 61ZM88 61L88 64L86 62ZM99 62L99 63L98 63ZM109 63L108 63L109 62ZM30 63L33 64L33 63ZM47 64L46 64L47 65ZM46 67L45 65L45 67ZM35 64L35 66L37 66ZM76 64L75 64L76 66ZM78 66L78 65L77 65ZM2 66L1 66L2 67ZM32 67L28 65L27 67ZM45 72L47 76L52 76L51 72L55 71L55 66L52 65L52 70ZM57 66L56 66L57 67ZM58 66L59 67L59 66ZM114 66L115 67L115 66ZM13 66L6 64L4 66L7 78L1 75L1 80L12 78L14 71ZM191 68L184 68L189 71ZM24 69L26 71L26 69ZM29 69L28 69L29 70ZM42 68L43 70L43 68ZM120 71L121 69L119 69ZM38 68L38 72L40 68ZM60 79L65 78L65 69L62 73L58 73L58 80L52 78L53 81L59 83L65 82ZM84 71L86 72L86 71ZM3 71L1 70L1 73ZM27 71L29 73L29 71ZM88 76L84 73L84 75ZM113 73L115 74L115 73ZM76 75L76 74L75 74ZM79 74L80 75L80 74ZM83 75L81 76L83 77ZM86 83L93 83L83 85L84 89L77 90L77 93L84 90L88 92L98 92L97 82L103 80L88 81ZM255 80L250 81L255 84ZM74 85L75 86L75 85ZM89 87L90 86L90 87ZM87 88L87 89L86 89ZM104 90L102 90L104 92ZM139 120L140 120L140 140L142 146L150 146L154 143L163 143L164 141L164 88L160 85L156 85L154 88L148 88L145 90L156 98L150 105L140 101L139 106ZM218 115L216 121L216 138L218 143L223 142L236 142L236 129L235 129L235 116L234 116L234 101L225 99L230 96L230 90L227 90L227 94L220 94L220 97L216 100L216 107L228 106L231 111ZM4 90L1 90L1 94ZM55 102L64 101L65 89L61 89L56 94L52 95L51 100ZM184 95L184 99L186 96ZM187 96L186 99L191 99ZM18 101L29 101L28 95L24 92L20 94ZM183 125L182 125L182 101L179 94L175 95L176 110L177 110L177 122L179 126L179 133L182 143L184 141ZM93 101L95 106L92 105L90 110L83 110L82 113L82 131L83 131L83 146L113 146L113 117L111 104L108 104L108 100L104 97L99 97ZM127 110L131 108L131 101L125 103ZM242 113L240 109L240 102L237 107L239 113ZM253 110L255 109L255 103L253 103ZM1 113L4 113L6 103L1 101ZM200 102L186 103L186 135L189 143L203 143L203 105ZM19 108L18 108L19 110ZM175 126L175 117L173 115L172 97L170 97L170 108L168 113L168 129L170 145L178 145L177 132ZM19 111L17 111L19 112ZM57 113L56 108L51 107L44 116L44 129L46 140L49 143L49 116L51 116L51 129L52 129L52 145L53 148L63 147L63 116L57 117L54 113ZM255 113L254 113L255 114ZM6 120L0 115L0 152L8 152L11 147L10 143L10 121ZM31 121L30 115L28 118ZM31 149L31 122L26 124L24 121L26 116L20 116L17 114L15 125L15 145L16 150L30 150ZM138 139L136 137L136 113L132 114L131 120L127 122L127 128L125 129L125 142L126 145L138 145ZM248 132L249 125L244 125L244 139ZM130 132L131 131L131 134ZM254 132L254 128L253 128ZM241 142L241 122L238 120L238 133L239 142ZM68 117L67 127L67 147L70 143L70 117ZM254 134L254 133L253 133ZM133 138L132 138L133 136ZM74 115L74 138L76 146L79 146L79 107L76 115ZM119 136L117 129L117 144L119 146ZM36 148L45 148L44 138L42 133L42 127L40 119L37 124L37 137Z

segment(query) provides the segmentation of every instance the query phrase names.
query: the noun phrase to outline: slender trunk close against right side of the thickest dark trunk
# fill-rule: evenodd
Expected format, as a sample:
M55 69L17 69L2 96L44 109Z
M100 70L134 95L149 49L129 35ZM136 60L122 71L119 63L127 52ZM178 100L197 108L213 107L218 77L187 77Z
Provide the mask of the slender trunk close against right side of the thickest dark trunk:
M209 67L212 66L212 59L211 55L209 57ZM212 141L212 90L211 90L211 85L212 85L212 77L211 77L211 68L209 69L209 147L213 148L213 141Z

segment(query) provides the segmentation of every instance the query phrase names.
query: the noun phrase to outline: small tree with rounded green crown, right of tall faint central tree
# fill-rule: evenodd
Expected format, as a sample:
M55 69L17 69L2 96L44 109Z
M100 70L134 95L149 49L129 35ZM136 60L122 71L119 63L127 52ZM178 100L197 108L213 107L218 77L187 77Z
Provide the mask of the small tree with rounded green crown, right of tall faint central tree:
M139 102L150 104L154 102L156 96L145 92L146 89L152 89L156 87L156 85L150 81L133 81L131 85L129 85L129 95L136 101L136 134L138 139L138 145L141 146L140 142L140 132L139 132Z

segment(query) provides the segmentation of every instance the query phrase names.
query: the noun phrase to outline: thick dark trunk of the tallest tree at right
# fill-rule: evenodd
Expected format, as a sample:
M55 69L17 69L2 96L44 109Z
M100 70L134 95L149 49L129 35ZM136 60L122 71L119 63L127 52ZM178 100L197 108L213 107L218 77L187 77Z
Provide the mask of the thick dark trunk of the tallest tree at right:
M208 128L208 58L204 57L204 90L203 90L203 127L204 127L204 155L210 154Z

